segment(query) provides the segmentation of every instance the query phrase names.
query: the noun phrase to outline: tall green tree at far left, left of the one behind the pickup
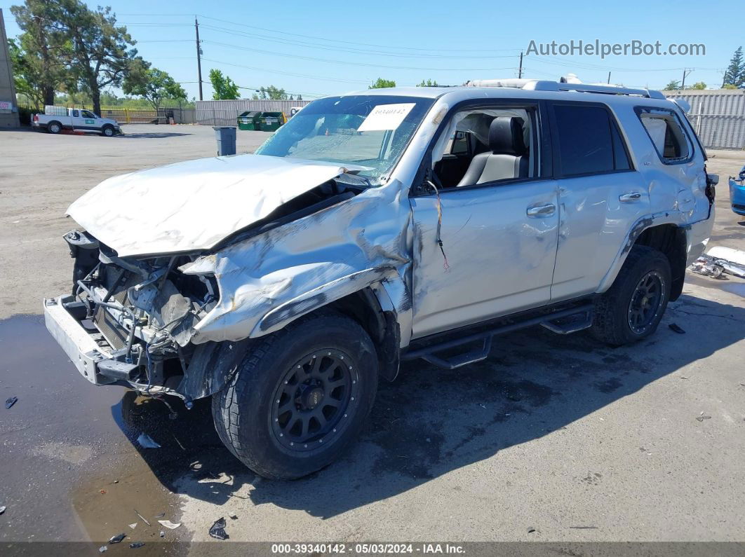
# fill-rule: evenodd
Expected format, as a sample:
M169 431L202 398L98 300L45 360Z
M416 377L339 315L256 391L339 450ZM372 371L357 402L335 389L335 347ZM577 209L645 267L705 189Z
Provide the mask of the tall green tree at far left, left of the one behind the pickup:
M54 104L54 91L66 77L69 35L60 25L61 7L54 0L25 0L10 13L23 31L10 47L16 89L37 104Z

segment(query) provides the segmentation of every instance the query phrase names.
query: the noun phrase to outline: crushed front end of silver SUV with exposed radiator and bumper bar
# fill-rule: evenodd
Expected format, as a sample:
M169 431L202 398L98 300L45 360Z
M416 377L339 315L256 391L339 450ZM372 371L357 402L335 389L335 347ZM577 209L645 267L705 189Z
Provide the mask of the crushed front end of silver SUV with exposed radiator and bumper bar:
M188 255L122 259L86 232L71 231L65 240L75 259L72 294L44 300L44 315L80 373L94 384L186 402L200 396L184 377L195 352L212 348L194 347L190 338L218 303L214 277L179 271L194 259Z

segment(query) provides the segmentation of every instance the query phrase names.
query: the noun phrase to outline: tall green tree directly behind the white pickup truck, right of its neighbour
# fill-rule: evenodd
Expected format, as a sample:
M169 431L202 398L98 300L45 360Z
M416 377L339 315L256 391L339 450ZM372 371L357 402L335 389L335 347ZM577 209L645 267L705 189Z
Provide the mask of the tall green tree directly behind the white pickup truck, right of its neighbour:
M72 43L69 57L72 90L90 95L93 112L101 112L101 90L120 86L137 56L127 28L116 25L110 7L90 10L80 0L47 0L63 7L61 23Z

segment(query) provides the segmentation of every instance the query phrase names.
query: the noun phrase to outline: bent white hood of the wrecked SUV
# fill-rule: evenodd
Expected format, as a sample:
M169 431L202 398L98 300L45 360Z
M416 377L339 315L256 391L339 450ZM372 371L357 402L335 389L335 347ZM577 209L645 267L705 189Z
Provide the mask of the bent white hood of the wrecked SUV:
M119 257L204 250L347 170L264 155L201 158L104 180L67 214Z

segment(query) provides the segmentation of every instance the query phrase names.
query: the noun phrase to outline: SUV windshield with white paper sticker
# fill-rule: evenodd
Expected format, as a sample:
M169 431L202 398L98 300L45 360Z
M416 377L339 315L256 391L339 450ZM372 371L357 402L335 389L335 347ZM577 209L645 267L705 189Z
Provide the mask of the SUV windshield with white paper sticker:
M364 167L379 184L393 170L434 100L388 95L329 97L305 106L257 155Z

